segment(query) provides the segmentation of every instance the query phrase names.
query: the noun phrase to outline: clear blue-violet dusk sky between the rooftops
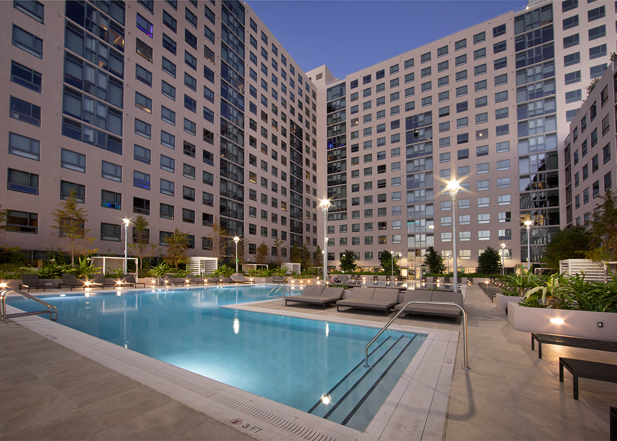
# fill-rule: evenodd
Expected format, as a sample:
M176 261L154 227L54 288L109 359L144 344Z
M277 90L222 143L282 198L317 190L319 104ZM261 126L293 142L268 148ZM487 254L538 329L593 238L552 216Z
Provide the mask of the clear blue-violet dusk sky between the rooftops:
M300 69L334 77L524 8L526 0L249 0ZM248 26L247 26L248 27Z

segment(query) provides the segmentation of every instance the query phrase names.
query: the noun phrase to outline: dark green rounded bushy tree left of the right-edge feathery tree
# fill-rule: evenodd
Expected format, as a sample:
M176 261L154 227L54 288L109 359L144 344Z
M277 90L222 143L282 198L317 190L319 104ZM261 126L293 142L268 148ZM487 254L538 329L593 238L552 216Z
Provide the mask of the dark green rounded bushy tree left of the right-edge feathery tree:
M582 225L557 232L546 244L542 262L549 268L559 269L559 261L586 259L590 251L590 232Z

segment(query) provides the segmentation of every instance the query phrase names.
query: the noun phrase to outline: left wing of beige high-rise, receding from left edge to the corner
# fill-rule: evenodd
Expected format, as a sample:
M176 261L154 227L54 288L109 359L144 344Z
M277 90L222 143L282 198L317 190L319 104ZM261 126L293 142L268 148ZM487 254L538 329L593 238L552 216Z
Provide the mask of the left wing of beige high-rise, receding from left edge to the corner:
M19 1L1 5L7 242L56 248L52 211L72 191L102 252L123 218L175 229L211 255L215 221L288 261L317 235L317 94L238 1ZM10 73L9 73L10 72ZM131 237L131 230L129 230Z

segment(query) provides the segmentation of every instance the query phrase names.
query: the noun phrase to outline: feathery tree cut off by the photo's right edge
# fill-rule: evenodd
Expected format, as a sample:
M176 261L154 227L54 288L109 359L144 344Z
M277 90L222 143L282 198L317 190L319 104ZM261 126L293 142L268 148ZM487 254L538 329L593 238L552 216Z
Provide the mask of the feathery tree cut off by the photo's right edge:
M617 260L617 207L612 191L604 193L602 199L604 202L595 208L591 221L587 257L597 262L611 262Z

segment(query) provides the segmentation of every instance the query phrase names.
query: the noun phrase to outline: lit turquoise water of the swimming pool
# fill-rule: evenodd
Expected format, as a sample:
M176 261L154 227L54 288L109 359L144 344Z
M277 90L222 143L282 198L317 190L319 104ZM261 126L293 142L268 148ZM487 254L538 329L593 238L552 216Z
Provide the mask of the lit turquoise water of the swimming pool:
M60 324L363 431L426 335L220 308L266 300L271 285L43 295ZM33 310L28 300L9 298ZM31 303L31 302L30 302ZM385 371L385 372L384 372ZM324 404L327 396L331 403ZM346 403L336 401L345 396ZM363 406L358 406L358 403ZM334 410L333 410L334 408Z

